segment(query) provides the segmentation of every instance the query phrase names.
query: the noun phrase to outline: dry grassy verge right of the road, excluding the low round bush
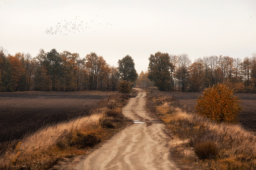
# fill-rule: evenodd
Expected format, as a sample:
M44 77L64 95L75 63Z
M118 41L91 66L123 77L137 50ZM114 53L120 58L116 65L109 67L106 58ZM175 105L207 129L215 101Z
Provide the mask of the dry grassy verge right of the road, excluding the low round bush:
M200 169L256 168L256 136L253 132L237 124L216 123L196 113L188 113L175 98L164 95L148 97L147 107L163 120L173 138L183 141L172 149L174 155L182 155L178 161L186 160ZM185 152L208 140L221 149L214 159L200 160L194 151L192 154Z

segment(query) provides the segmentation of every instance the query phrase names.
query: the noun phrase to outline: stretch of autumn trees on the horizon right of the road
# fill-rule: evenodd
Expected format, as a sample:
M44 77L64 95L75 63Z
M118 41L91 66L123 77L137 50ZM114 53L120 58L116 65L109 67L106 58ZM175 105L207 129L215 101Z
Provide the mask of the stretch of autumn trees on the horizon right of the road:
M163 91L202 91L224 83L236 92L255 93L256 53L243 60L229 56L209 56L198 58L192 63L187 54L157 52L149 57L147 74L148 79Z

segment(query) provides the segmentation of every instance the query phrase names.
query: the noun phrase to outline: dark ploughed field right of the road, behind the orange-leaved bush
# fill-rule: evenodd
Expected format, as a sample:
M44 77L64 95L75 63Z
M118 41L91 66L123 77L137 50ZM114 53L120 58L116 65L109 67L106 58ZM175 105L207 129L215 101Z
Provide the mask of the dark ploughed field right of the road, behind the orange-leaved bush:
M164 93L167 96L175 96L188 109L195 111L197 97L202 92L181 93L181 92L155 92ZM235 93L241 100L242 112L239 115L239 123L247 130L256 132L256 94Z

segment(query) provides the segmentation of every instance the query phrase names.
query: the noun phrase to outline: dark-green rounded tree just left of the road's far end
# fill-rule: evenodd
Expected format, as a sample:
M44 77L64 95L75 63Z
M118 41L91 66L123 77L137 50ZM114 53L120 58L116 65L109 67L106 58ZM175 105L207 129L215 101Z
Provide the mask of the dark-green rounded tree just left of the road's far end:
M134 60L129 55L126 55L121 60L118 60L118 72L120 78L125 81L131 81L133 83L138 78L138 73L135 70Z

